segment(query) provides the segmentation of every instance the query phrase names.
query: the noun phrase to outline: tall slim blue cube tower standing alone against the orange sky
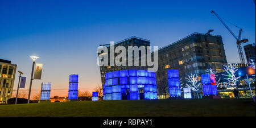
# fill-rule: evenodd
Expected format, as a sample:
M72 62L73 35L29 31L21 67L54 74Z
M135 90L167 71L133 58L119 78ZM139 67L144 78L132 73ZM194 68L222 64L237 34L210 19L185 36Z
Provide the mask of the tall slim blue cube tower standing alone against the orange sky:
M69 75L68 99L77 99L78 76L75 74Z

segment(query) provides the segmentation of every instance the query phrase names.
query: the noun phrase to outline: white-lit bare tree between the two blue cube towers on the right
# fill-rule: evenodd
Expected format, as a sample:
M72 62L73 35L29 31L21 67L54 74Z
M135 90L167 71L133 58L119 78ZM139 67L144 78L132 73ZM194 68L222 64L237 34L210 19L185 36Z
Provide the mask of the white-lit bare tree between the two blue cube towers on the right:
M186 86L190 88L193 93L196 93L197 98L199 98L199 94L197 93L197 91L199 90L201 83L197 74L191 73L191 75L188 75L188 77L185 77L185 79L188 80Z

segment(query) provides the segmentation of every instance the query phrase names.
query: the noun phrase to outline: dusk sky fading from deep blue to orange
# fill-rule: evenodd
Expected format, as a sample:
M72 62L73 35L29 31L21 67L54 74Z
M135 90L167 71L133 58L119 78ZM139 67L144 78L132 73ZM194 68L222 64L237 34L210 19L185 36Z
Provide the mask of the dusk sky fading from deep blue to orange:
M0 1L0 58L11 60L30 79L31 55L43 63L40 83L52 82L51 96L68 95L68 77L79 74L79 89L92 90L100 82L96 65L99 44L130 36L164 47L193 32L221 35L229 63L239 63L236 40L220 16L243 28L242 38L255 43L255 5L244 1ZM228 23L237 35L238 28ZM18 84L18 74L14 83ZM29 82L26 83L28 89Z

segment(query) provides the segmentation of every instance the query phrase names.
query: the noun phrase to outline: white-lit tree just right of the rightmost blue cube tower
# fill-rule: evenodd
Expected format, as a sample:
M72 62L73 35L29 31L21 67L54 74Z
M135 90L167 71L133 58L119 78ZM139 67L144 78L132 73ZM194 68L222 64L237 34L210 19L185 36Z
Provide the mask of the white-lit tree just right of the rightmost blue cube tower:
M229 81L229 86L236 86L237 88L237 81L240 79L240 76L237 77L238 68L236 67L236 65L237 64L223 65L226 74L222 75L228 77L225 78L225 80Z

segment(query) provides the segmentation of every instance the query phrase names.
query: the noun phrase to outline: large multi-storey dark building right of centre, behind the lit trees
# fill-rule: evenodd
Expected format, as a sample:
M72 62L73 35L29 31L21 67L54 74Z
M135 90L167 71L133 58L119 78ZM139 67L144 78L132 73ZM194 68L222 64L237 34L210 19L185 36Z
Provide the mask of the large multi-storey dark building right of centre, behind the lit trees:
M208 68L223 72L222 65L227 63L224 44L219 35L193 33L160 48L158 54L159 68L156 72L156 84L158 94L162 96L168 93L167 70L179 70L182 86L182 83L186 83L185 77L191 73L200 76Z

